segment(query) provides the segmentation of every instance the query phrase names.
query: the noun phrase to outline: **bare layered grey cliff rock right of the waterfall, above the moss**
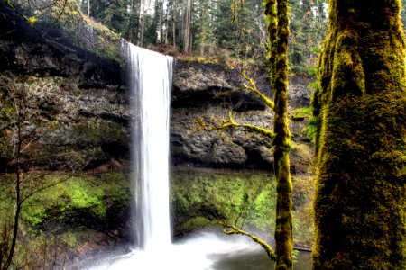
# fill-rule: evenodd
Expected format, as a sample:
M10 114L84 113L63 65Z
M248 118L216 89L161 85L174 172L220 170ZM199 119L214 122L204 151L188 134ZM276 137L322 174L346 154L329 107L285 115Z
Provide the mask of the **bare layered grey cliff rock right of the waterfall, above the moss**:
M272 97L267 83L266 67L249 71L258 88ZM253 92L242 86L247 82L238 68L198 62L177 61L174 76L171 111L171 153L174 165L261 168L272 170L272 140L254 132L237 128L199 130L197 121L227 121L228 112L238 123L253 124L272 130L273 112ZM290 109L309 106L309 79L294 78L290 84ZM211 119L211 120L210 120ZM294 141L306 140L301 130L308 121L291 121ZM303 170L308 163L294 148L292 168ZM297 163L300 166L296 166Z

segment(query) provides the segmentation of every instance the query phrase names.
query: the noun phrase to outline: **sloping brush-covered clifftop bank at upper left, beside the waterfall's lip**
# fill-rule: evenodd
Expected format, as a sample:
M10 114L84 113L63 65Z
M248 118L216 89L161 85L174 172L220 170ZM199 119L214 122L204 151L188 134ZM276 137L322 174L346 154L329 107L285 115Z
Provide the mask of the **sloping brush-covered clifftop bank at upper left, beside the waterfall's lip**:
M36 1L10 0L16 14L30 24L52 46L69 53L73 44L115 61L119 61L120 35L80 12L76 0L54 1L44 4ZM49 32L58 32L54 37Z

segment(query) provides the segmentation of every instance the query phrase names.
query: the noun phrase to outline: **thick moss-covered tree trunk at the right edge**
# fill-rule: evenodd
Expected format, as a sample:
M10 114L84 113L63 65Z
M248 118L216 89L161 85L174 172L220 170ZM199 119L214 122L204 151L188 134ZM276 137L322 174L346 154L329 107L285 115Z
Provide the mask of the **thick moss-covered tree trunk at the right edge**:
M314 269L405 269L401 1L329 1L313 95L319 127Z

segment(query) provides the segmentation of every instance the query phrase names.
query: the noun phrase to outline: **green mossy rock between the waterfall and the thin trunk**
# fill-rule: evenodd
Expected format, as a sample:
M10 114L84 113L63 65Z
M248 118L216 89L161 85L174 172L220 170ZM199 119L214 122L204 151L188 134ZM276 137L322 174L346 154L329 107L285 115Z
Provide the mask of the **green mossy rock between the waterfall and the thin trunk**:
M264 181L264 177L270 181ZM223 219L272 232L275 201L272 175L194 172L176 169L171 173L171 203L175 223L189 219ZM182 219L182 220L177 220Z

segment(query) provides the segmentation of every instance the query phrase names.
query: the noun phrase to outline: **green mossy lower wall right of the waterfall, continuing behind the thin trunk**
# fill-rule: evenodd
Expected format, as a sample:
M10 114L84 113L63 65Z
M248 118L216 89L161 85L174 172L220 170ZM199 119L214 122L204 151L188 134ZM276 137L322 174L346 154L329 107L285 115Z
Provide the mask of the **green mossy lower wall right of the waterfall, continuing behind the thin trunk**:
M297 225L295 241L309 247L312 240L311 181L307 177L294 177L293 183L297 206L293 212L298 217L294 220ZM276 186L274 176L270 174L174 168L171 204L175 234L190 229L218 228L218 220L261 235L274 232ZM303 224L310 229L302 230Z

